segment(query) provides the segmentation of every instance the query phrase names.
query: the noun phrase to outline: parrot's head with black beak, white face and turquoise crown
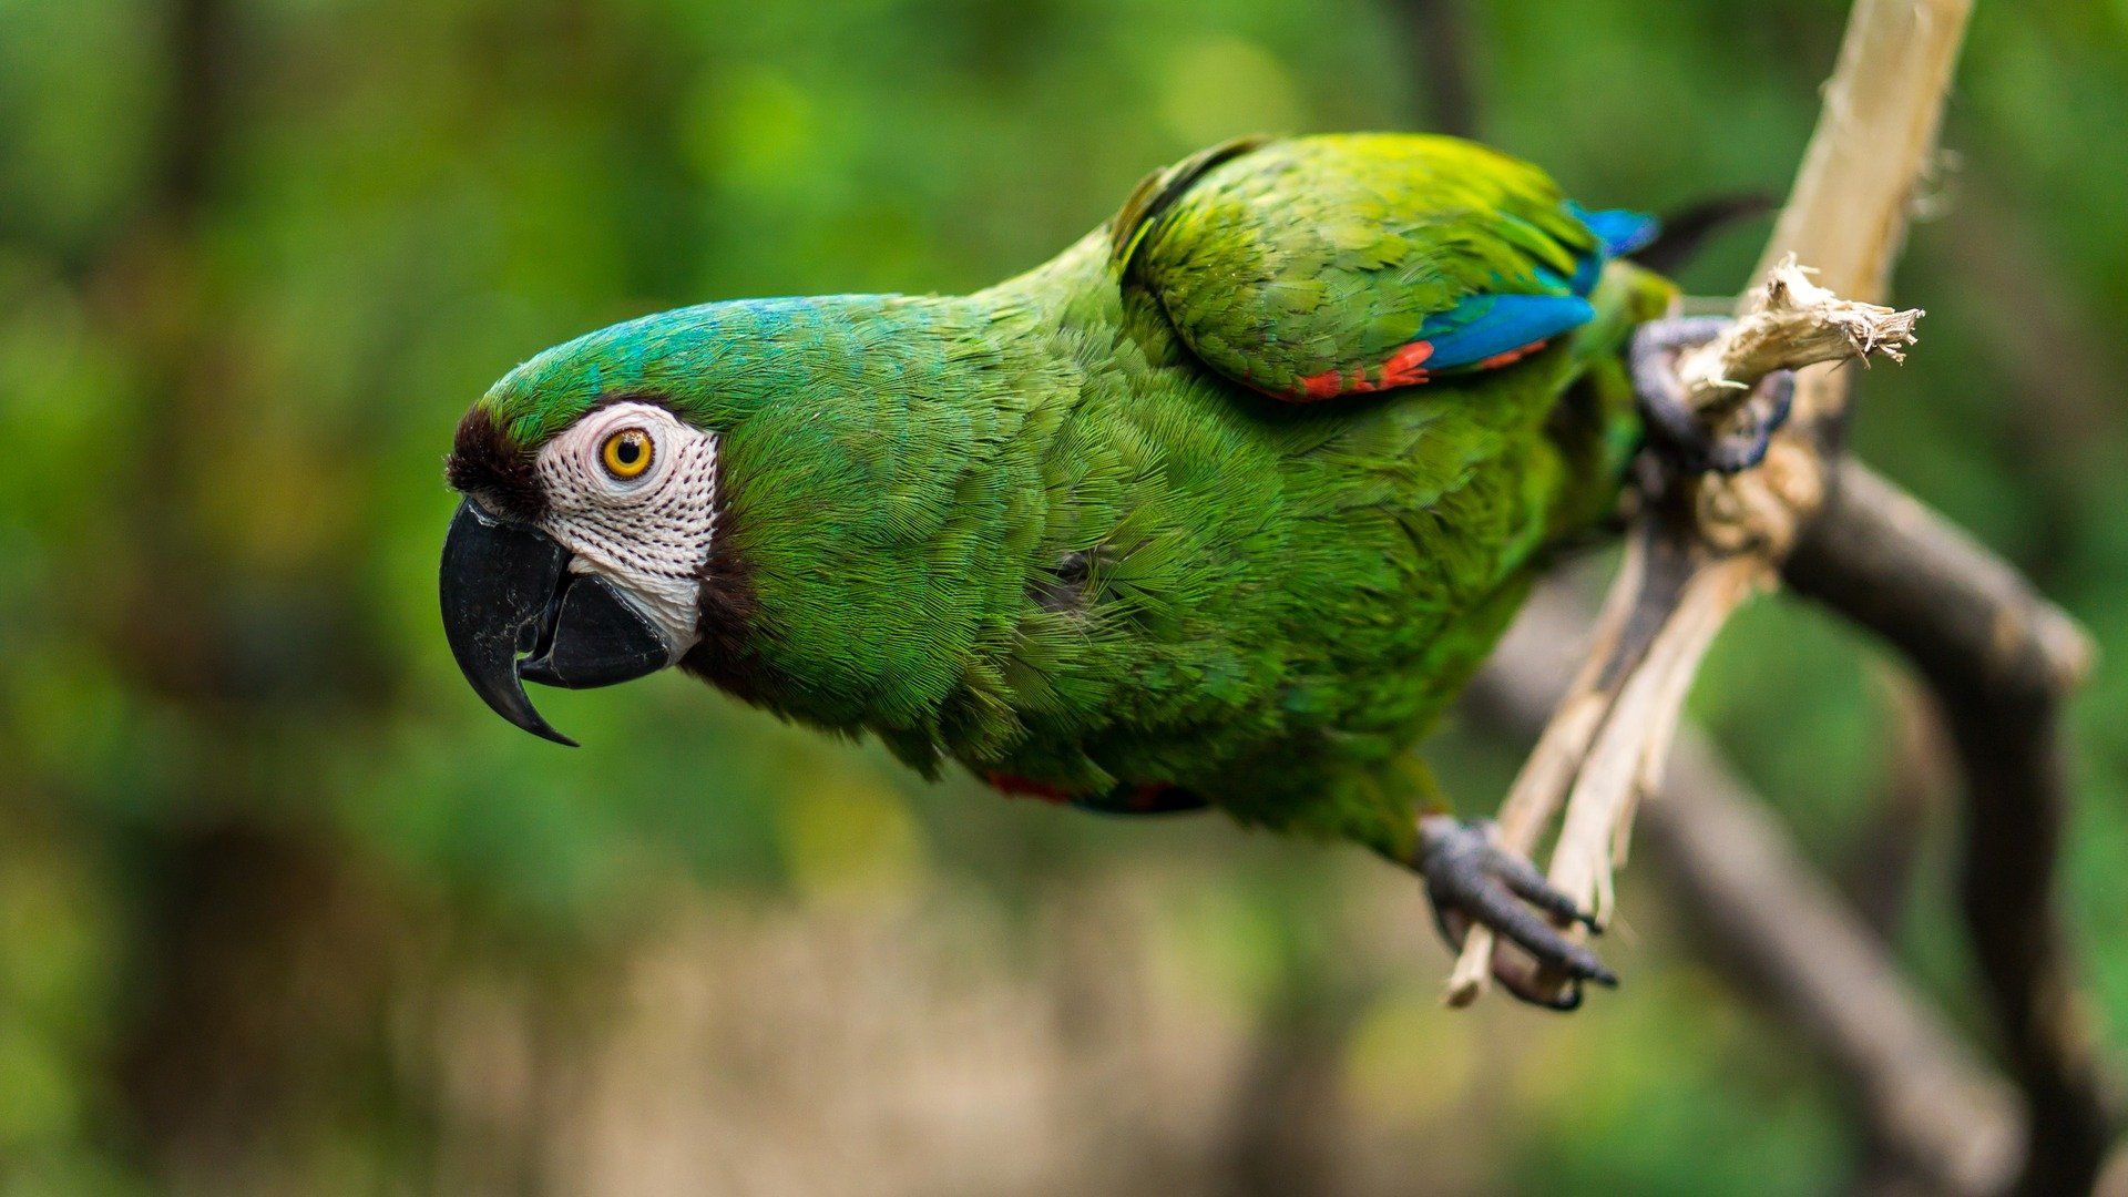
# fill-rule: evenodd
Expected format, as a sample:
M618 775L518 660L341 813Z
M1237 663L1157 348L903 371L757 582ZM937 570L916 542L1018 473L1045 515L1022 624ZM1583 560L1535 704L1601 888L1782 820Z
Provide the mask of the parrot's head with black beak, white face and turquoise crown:
M702 639L717 545L713 309L619 324L532 358L458 426L443 628L475 692L575 745L523 682L592 688L677 665Z

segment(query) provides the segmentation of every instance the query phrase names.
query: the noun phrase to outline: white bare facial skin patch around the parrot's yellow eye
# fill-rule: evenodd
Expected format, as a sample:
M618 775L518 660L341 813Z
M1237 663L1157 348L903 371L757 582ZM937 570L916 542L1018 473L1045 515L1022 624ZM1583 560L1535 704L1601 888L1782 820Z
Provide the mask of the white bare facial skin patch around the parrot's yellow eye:
M549 441L538 477L547 492L541 530L575 554L570 573L619 586L666 633L675 660L694 647L700 571L717 526L717 437L662 407L615 403Z

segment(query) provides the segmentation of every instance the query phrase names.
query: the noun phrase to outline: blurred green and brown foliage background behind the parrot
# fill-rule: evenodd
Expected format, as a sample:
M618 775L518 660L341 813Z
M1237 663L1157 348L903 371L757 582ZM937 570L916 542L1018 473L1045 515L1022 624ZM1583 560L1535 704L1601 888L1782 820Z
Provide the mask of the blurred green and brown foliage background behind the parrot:
M670 675L496 720L460 411L706 298L966 290L1256 130L1456 128L1600 204L1779 194L1845 4L0 0L0 1193L1811 1193L1851 1095L1628 880L1628 973L1451 1016L1415 886L928 788ZM2128 658L2128 2L1981 0L1856 443ZM1685 281L1732 292L1762 224ZM1694 705L1975 1020L1858 637ZM1490 807L1517 745L1436 754ZM2128 671L2075 711L2128 1029ZM1922 771L1926 773L1926 771ZM1934 805L1928 805L1934 803ZM1902 814L1907 811L1907 814ZM1930 814L1932 811L1932 814Z

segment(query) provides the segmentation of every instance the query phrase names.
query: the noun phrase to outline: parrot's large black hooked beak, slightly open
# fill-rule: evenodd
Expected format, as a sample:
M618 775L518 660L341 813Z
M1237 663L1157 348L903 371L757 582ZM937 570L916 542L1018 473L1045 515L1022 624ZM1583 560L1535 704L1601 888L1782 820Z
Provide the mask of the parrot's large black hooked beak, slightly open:
M523 682L587 690L672 665L664 633L611 581L570 573L553 537L470 498L443 541L443 633L498 716L570 748L577 741L532 709Z

